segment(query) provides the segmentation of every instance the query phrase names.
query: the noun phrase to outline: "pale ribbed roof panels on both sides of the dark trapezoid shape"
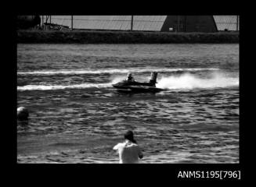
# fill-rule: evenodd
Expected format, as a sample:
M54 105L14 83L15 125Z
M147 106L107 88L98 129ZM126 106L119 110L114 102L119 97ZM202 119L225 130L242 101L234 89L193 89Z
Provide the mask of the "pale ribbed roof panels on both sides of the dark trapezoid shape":
M85 30L160 31L167 16L41 16L41 24ZM218 31L239 30L239 16L214 16Z

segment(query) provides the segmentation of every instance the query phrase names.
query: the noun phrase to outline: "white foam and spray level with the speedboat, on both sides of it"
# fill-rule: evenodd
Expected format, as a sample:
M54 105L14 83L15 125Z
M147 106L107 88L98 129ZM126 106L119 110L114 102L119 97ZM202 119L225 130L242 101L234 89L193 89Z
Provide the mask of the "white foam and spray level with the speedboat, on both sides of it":
M86 89L86 88L109 88L118 83L124 76L114 76L109 83L81 83L73 85L26 85L17 86L17 90L63 90L63 89ZM165 90L178 89L212 89L230 86L239 86L238 77L230 77L223 73L213 73L210 78L203 79L198 76L185 73L180 76L162 76L157 80L156 86Z

